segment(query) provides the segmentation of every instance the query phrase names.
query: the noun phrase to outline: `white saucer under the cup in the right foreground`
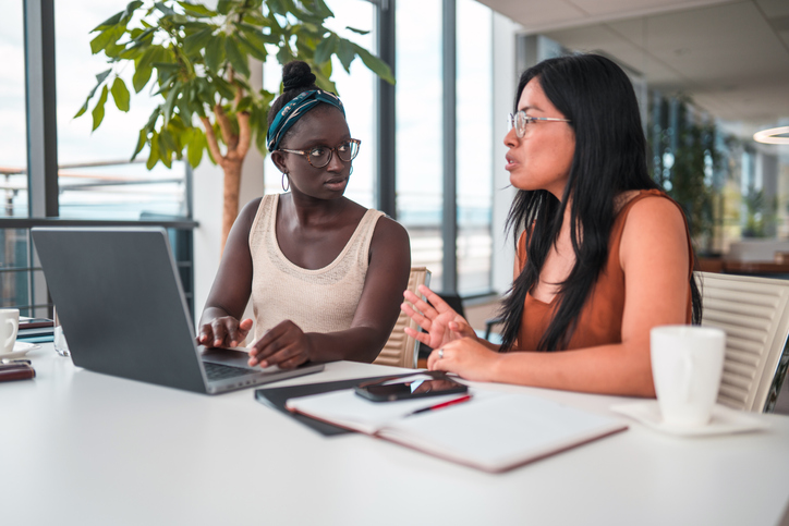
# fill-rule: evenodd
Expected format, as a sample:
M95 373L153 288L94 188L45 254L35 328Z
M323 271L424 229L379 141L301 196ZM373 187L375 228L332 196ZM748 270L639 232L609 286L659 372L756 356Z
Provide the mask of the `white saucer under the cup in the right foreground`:
M679 437L704 437L711 435L727 435L733 432L754 431L766 429L769 423L755 415L736 411L720 404L713 407L713 417L705 426L671 426L663 421L657 400L647 400L632 404L611 405L610 409L621 415L639 420L644 426L656 431Z

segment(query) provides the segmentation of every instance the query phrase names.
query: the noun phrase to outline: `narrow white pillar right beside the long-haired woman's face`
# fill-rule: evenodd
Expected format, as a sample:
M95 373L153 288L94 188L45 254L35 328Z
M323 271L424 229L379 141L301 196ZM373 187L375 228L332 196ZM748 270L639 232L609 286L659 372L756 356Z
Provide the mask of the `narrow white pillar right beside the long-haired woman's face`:
M505 118L512 112L518 87L519 71L515 65L515 35L521 26L508 17L494 13L494 127L493 127L493 289L501 294L512 284L514 245L512 237L505 236L505 221L515 188L510 185L510 175L505 170L503 144L507 131Z

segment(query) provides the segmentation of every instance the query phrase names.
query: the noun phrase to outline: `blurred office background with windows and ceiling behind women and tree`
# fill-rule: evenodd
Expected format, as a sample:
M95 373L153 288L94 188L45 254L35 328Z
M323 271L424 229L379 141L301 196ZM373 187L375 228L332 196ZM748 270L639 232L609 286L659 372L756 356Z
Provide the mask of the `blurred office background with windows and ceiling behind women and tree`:
M219 262L221 170L129 158L154 100L108 105L90 132L73 119L105 68L89 30L125 0L3 0L0 17L0 279L2 306L51 314L29 228L159 221L171 232L195 316ZM412 262L437 291L495 302L512 278L503 221L506 117L520 73L543 59L603 53L630 75L653 175L689 207L696 250L789 252L789 145L755 132L789 125L786 0L327 0L333 29L393 65L397 85L355 61L335 65L351 133L362 139L347 195L400 221ZM371 29L357 35L347 26ZM276 89L279 65L256 64ZM131 76L131 73L130 73ZM785 143L789 134L784 134ZM282 192L254 152L242 206ZM786 244L784 246L782 244ZM743 248L744 247L744 248ZM98 248L98 247L97 247ZM743 252L744 250L744 252Z

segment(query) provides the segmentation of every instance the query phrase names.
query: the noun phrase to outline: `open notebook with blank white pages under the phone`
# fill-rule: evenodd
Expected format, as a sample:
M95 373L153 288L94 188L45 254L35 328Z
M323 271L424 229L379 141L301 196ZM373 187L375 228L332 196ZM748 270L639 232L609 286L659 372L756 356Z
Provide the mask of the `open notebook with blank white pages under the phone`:
M527 394L470 389L458 397L376 403L353 390L291 399L288 409L485 472L505 472L628 428L622 420ZM410 416L409 416L410 415Z

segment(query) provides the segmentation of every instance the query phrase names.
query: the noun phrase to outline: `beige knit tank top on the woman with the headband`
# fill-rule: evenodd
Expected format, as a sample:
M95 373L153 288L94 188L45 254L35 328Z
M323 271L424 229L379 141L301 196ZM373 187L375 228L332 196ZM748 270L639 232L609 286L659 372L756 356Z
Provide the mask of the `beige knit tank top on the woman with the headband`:
M384 212L367 210L337 259L308 270L291 262L277 242L279 194L263 196L250 231L255 340L283 320L304 332L351 328L367 274L369 243Z

